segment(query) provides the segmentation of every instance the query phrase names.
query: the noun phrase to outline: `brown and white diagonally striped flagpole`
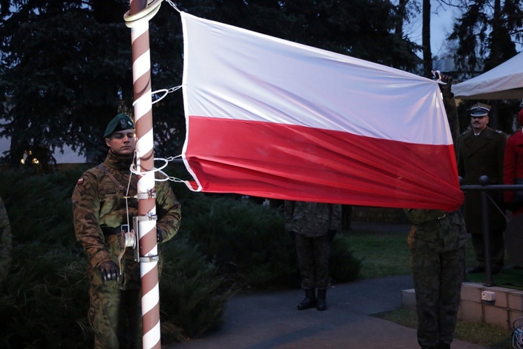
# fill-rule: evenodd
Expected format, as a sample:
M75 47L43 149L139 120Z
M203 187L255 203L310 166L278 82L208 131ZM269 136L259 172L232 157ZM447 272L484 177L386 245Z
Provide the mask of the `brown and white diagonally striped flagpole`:
M130 0L124 19L131 29L132 80L137 135L137 184L140 277L142 280L143 348L161 348L158 245L156 238L156 192L154 190L153 110L151 101L151 55L149 19L161 0Z

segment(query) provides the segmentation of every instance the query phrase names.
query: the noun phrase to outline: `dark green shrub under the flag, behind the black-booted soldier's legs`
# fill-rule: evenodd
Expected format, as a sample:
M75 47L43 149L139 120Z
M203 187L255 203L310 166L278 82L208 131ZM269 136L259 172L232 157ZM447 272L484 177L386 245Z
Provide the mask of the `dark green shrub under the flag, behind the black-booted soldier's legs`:
M285 232L280 209L230 196L201 195L184 207L183 234L215 262L220 274L243 289L300 285L296 249ZM356 280L361 260L342 238L333 240L331 276Z

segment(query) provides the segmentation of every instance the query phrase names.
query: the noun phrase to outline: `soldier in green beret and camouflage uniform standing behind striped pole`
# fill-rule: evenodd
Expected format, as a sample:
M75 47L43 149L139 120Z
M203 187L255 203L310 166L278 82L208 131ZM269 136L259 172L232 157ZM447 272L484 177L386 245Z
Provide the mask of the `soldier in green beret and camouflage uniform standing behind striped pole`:
M104 137L109 147L105 162L84 172L73 192L76 237L87 254L91 283L88 318L95 348L142 348L139 262L130 247L119 261L121 232L138 215L138 177L130 172L134 123L118 114ZM156 181L155 188L158 243L167 242L179 230L180 204L167 181ZM161 270L161 246L158 253Z

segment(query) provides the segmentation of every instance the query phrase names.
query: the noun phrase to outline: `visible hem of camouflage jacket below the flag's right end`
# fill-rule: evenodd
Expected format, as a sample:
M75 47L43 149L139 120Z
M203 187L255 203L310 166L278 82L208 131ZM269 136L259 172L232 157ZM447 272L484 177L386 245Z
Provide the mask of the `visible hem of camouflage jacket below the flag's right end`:
M411 251L423 254L456 250L467 244L467 230L460 211L404 209L414 226L407 244Z

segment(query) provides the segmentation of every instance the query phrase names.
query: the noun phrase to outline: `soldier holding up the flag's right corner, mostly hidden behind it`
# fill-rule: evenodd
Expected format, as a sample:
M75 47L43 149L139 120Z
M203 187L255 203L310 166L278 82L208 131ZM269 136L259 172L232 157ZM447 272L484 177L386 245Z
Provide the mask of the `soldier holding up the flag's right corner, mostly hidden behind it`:
M459 134L457 110L451 92L452 77L442 75L440 85L454 143ZM467 230L460 211L405 209L414 223L407 244L416 291L418 343L421 348L450 348L465 267Z

